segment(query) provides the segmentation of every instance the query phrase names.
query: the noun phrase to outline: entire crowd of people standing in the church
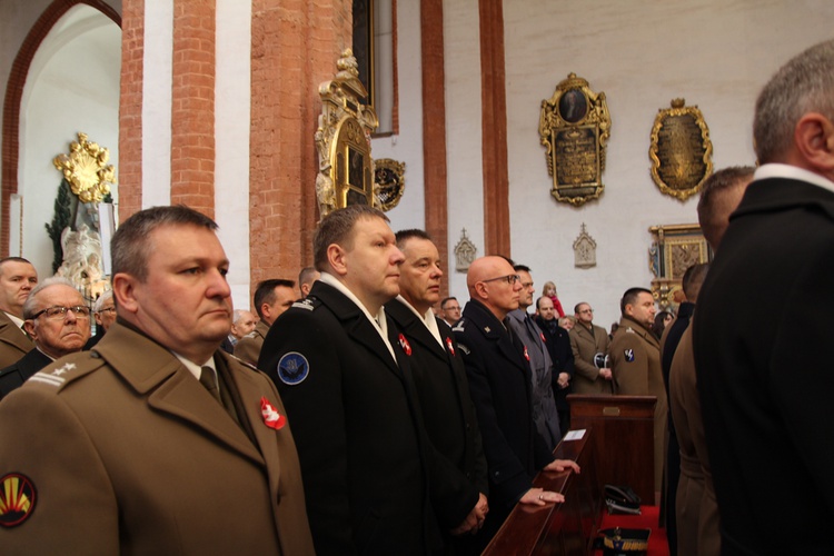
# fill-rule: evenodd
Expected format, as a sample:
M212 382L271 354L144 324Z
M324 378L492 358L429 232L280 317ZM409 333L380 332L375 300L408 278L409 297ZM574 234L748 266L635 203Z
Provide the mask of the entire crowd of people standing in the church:
M254 311L232 310L217 225L182 206L118 228L92 308L0 260L0 546L479 554L517 505L564 502L538 471L582 471L553 455L573 391L656 397L672 554L824 553L832 91L834 41L776 73L761 166L703 185L714 261L687 269L676 315L627 288L612 334L503 256L443 298L431 237L360 205L324 217L314 265L261 281Z

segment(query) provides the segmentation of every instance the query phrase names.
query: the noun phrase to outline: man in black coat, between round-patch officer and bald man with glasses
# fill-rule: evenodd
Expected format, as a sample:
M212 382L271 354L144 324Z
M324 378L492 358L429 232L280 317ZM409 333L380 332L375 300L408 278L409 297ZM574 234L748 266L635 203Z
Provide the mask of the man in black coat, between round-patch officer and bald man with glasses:
M440 298L440 256L423 230L403 230L396 237L406 260L399 296L385 305L385 312L410 345L409 366L429 440L465 477L464 507L478 503L474 523L447 535L447 542L455 554L476 554L476 538L464 533L476 533L488 509L486 459L463 355L451 328L431 311Z

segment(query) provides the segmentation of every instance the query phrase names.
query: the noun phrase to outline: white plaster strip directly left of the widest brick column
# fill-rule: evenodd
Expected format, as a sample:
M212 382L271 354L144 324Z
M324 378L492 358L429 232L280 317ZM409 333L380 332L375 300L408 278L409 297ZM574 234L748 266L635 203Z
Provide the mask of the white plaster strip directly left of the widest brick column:
M251 4L217 1L215 220L237 309L249 309L249 101Z

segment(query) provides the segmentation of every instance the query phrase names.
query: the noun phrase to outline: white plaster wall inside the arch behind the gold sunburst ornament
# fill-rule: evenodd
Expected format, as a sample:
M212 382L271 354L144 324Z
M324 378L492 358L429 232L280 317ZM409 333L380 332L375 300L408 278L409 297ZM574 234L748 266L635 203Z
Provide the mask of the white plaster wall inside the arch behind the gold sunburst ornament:
M23 199L22 256L41 277L52 274L52 220L61 173L56 155L83 131L119 165L121 30L88 6L71 8L41 43L21 101L18 190ZM117 197L118 191L113 191Z

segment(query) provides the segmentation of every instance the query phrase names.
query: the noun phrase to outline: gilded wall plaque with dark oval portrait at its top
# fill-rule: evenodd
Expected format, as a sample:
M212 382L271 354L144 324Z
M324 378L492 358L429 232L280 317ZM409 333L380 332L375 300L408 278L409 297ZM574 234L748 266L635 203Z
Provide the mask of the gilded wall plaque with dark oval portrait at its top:
M580 206L603 195L605 150L610 137L610 115L605 93L570 73L542 101L538 135L545 146L547 172L553 176L556 200Z

